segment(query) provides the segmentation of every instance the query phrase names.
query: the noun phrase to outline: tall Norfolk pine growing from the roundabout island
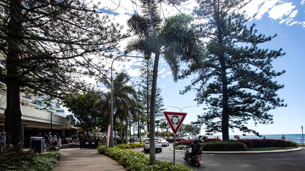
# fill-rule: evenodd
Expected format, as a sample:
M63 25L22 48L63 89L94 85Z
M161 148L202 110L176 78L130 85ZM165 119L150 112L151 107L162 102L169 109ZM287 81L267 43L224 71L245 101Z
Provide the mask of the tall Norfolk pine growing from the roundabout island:
M285 53L282 49L258 47L277 35L266 37L258 33L255 24L248 27L247 22L253 17L239 13L246 5L242 0L206 0L198 4L198 19L207 20L197 26L200 37L208 39L203 44L205 67L185 71L185 76L199 76L181 93L194 89L195 100L209 104L209 111L198 115L198 123L206 125L206 132L222 132L223 140L229 140L229 128L259 135L246 126L247 122L252 119L255 125L273 123L268 111L287 106L276 93L284 85L275 81L285 71L273 71L271 65Z

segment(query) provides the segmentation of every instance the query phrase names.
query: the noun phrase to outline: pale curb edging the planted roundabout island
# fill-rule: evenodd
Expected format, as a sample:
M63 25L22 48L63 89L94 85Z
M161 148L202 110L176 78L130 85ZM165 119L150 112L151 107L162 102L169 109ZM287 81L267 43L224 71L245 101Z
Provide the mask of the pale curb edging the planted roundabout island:
M174 149L171 148L173 151ZM205 154L257 154L257 153L283 153L283 152L292 152L300 151L301 148L288 149L288 150L270 150L270 151L203 151ZM176 150L178 152L185 152L185 150Z

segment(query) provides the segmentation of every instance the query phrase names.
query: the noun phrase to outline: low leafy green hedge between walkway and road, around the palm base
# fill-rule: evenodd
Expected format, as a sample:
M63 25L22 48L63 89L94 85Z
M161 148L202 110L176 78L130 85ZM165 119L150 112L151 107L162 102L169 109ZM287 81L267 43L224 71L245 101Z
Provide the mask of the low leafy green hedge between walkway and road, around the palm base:
M149 165L149 158L144 153L133 150L119 149L117 146L114 146L114 148L107 148L106 145L101 145L98 147L98 151L101 154L104 154L117 161L119 164L125 167L126 170L193 170L178 164L173 166L173 163L169 161L156 160L155 165Z

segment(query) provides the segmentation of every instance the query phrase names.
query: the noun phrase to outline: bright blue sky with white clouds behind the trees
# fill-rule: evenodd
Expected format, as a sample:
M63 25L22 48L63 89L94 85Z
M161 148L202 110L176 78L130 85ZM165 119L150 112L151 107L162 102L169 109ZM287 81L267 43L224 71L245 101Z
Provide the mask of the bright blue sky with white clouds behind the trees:
M134 2L134 3L132 3ZM93 3L97 3L93 1ZM109 19L112 22L119 23L124 26L126 31L126 21L130 17L130 14L134 11L141 13L139 7L139 1L129 0L103 0L98 6L100 11L107 13ZM118 6L119 5L119 6ZM181 12L191 14L193 8L197 6L195 1L188 1L181 6L172 7L162 3L161 14L164 17L168 17L174 14L178 14L179 9ZM301 133L301 126L305 126L305 63L304 56L304 40L305 40L305 0L254 0L248 4L243 10L246 14L252 16L257 13L256 17L249 22L249 24L256 23L256 29L259 33L263 33L266 36L272 36L277 33L277 37L272 41L260 45L261 48L268 48L273 50L283 49L283 52L287 54L273 61L273 69L276 71L285 70L286 73L277 78L278 83L284 84L285 88L279 90L277 93L280 98L285 100L288 107L277 108L269 111L274 115L273 121L275 123L269 125L258 124L254 125L252 121L249 121L247 126L251 129L258 131L260 134L298 134ZM163 12L162 12L163 11ZM120 42L123 51L124 45L128 40ZM140 55L133 53L131 55ZM133 81L139 81L138 66L141 65L141 58L123 58L130 61L120 62L115 61L113 68L116 71L126 71L133 77ZM110 63L108 63L110 64ZM109 65L108 65L109 66ZM201 115L205 112L206 105L197 104L194 101L194 91L187 94L180 95L179 91L183 90L185 86L190 84L190 81L195 76L189 77L186 80L180 80L173 82L173 78L168 67L168 64L163 58L159 61L159 77L158 86L162 88L162 97L164 99L165 106L173 106L178 108L196 106L191 108L185 108L182 112L186 112L187 117L184 123L190 123L197 120L197 115ZM89 81L89 80L88 80ZM200 105L197 107L197 105ZM180 112L177 108L165 107L169 112ZM204 125L202 125L201 134L205 134ZM232 134L242 134L239 130L229 132ZM221 135L217 133L215 135Z

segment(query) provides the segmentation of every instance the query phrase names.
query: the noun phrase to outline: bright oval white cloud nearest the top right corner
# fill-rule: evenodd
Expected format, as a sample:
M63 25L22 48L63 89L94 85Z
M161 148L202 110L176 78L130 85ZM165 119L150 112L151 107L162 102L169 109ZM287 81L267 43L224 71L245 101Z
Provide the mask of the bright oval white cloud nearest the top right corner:
M292 3L284 3L281 5L274 6L268 13L269 18L272 19L282 19L283 16L289 15L291 11L295 8Z

